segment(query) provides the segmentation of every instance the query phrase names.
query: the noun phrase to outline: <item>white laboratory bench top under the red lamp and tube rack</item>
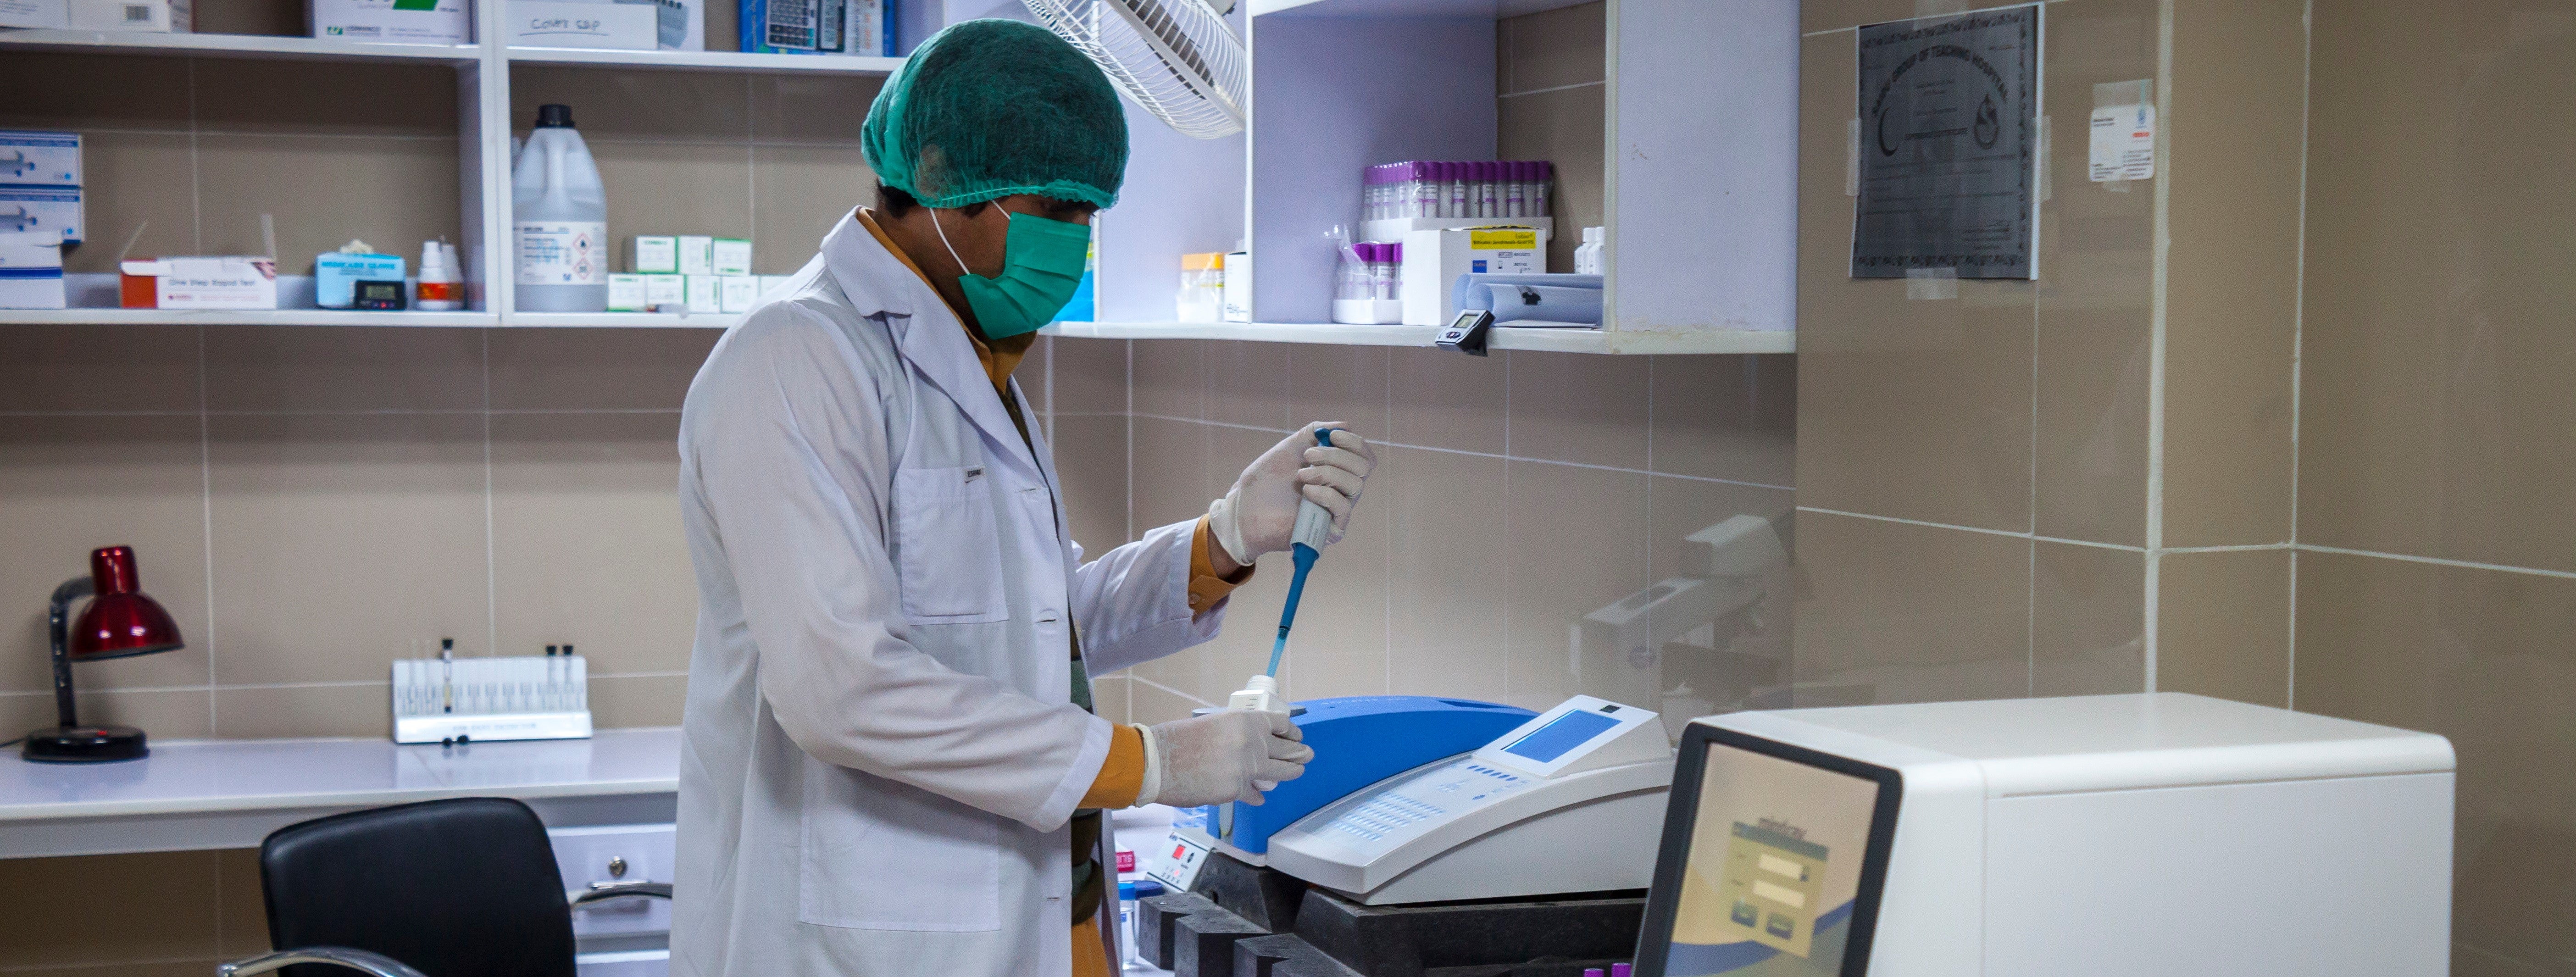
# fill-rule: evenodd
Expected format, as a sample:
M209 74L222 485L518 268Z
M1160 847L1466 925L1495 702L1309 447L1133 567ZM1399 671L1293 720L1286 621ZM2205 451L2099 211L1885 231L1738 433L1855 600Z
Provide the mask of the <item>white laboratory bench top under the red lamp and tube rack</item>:
M0 858L258 848L361 807L515 797L546 827L670 825L680 730L590 740L160 740L124 763L0 758Z

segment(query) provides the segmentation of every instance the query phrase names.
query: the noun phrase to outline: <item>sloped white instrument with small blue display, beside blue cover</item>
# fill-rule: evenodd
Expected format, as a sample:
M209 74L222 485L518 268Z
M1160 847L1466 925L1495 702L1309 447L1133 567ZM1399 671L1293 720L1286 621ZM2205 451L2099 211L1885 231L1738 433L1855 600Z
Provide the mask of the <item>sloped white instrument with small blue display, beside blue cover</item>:
M1643 889L1667 784L1656 714L1574 696L1278 830L1270 866L1368 905Z

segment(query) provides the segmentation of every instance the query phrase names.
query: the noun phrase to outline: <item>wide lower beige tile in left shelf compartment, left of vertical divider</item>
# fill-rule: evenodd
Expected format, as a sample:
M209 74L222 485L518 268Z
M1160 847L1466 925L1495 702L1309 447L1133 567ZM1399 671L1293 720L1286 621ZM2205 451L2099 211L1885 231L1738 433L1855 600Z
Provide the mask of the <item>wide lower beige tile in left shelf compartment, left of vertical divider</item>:
M198 134L196 245L206 255L265 253L260 214L273 214L278 273L309 276L314 255L350 237L417 258L422 240L464 240L456 186L453 137Z

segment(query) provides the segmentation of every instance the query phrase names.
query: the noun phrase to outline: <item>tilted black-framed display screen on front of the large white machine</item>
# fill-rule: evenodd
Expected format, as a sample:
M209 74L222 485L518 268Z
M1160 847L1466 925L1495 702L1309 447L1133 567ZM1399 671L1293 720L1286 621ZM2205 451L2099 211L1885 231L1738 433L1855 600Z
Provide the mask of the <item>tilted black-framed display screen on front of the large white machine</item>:
M1638 974L1865 974L1899 791L1896 771L1690 727Z

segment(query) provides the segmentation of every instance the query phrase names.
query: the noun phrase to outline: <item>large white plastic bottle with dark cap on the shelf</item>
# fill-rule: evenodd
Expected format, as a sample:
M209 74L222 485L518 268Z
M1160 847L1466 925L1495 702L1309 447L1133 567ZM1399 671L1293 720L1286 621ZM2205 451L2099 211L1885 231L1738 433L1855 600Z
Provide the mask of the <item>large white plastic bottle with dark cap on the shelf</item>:
M608 191L569 106L536 106L510 170L510 222L520 312L608 309Z

